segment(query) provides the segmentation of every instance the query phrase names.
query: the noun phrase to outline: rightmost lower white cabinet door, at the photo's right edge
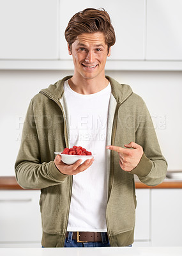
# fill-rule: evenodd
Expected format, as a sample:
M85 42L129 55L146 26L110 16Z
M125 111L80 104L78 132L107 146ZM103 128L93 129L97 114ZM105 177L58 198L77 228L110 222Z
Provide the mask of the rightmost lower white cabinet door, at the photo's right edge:
M152 246L182 246L182 189L151 189Z

